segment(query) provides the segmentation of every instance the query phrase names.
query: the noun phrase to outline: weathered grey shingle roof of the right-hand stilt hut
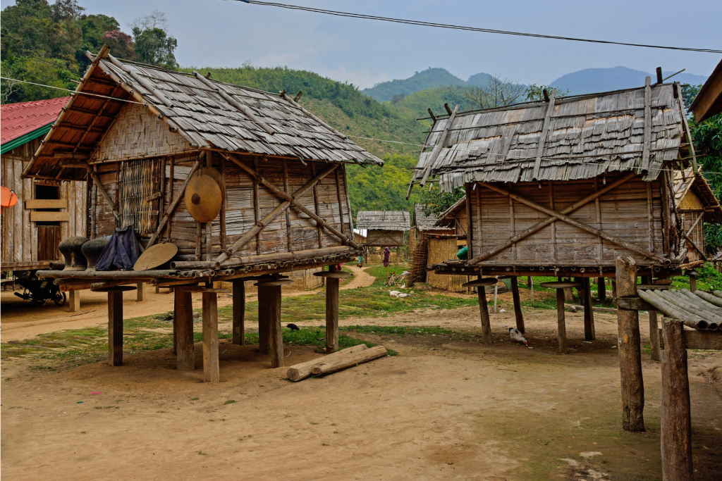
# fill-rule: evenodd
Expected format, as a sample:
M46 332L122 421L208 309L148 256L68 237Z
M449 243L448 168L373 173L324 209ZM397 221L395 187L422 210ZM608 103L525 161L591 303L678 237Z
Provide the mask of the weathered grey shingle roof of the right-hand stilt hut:
M650 164L677 159L683 138L679 84L651 87ZM547 102L456 115L430 178L451 191L466 182L531 182ZM419 157L421 182L448 118L437 119ZM537 180L587 179L642 167L645 88L567 97L554 105Z

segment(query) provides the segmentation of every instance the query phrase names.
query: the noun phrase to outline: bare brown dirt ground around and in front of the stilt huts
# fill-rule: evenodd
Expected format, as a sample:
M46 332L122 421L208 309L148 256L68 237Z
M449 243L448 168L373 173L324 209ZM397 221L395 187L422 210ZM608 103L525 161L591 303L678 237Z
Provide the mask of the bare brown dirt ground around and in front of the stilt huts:
M160 296L170 302L170 296ZM93 308L90 301L87 306ZM101 318L96 322L102 323L102 300L96 309ZM342 325L440 326L456 334L347 332L399 355L298 383L285 379L286 369L270 369L255 346L225 341L222 382L215 386L201 382L202 369L176 371L170 349L126 352L120 367L100 362L58 372L31 369L26 359L4 360L3 475L12 480L661 479L659 364L643 353L648 429L626 433L614 315L596 313L597 340L585 343L583 314L567 313L573 350L558 356L556 312L525 308L524 314L532 349L513 343L502 327L513 325L513 312L492 314L492 346L479 343L474 307L344 319ZM647 338L646 316L640 316L640 325ZM287 346L285 356L290 366L319 355L310 346ZM201 366L199 344L196 366ZM697 481L722 477L721 387L719 354L690 352Z

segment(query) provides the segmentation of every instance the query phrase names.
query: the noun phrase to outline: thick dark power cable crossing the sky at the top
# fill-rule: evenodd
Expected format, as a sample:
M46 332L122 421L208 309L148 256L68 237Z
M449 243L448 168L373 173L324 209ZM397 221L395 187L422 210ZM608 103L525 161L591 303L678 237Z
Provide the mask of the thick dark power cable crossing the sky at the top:
M670 46L664 46L664 45L646 45L644 43L613 42L612 40L591 40L588 38L561 37L558 35L541 35L539 33L511 32L509 30L495 30L495 29L491 29L491 28L464 27L462 25L424 22L422 20L408 20L408 19L399 19L399 18L392 18L392 17L379 17L377 15L356 14L356 13L351 13L351 12L338 12L336 10L316 9L316 8L313 8L310 6L277 4L277 3L274 3L271 1L256 1L256 0L235 0L235 1L243 1L246 4L256 4L256 5L262 5L262 6L275 6L277 8L289 9L289 10L303 10L304 12L334 15L336 17L349 17L349 18L358 18L358 19L365 19L365 20L379 20L381 22L402 23L402 24L406 24L406 25L419 25L421 27L448 28L451 30L466 30L469 32L496 33L496 34L500 34L500 35L518 35L520 37L547 38L547 39L552 39L552 40L570 40L573 42L606 43L609 45L625 45L628 47L664 48L666 50L685 50L688 52L722 53L722 50L716 50L713 48L670 47Z

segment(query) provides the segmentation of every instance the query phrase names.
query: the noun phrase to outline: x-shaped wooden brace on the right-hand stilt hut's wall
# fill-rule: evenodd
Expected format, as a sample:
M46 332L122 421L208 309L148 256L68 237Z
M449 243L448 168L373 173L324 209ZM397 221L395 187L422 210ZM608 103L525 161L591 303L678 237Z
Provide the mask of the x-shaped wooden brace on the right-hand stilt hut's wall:
M545 219L544 221L539 222L538 224L534 224L534 226L529 227L529 229L526 229L525 231L521 232L520 234L517 234L516 236L510 237L509 239L506 240L506 242L498 245L497 247L490 250L489 252L485 252L482 255L478 255L477 257L474 257L473 259L469 260L469 264L474 265L479 262L482 262L482 260L488 259L489 257L492 257L492 255L498 254L499 252L510 247L512 244L515 244L516 242L520 241L521 239L528 237L530 234L533 234L534 232L538 231L539 229L542 229L557 220L566 222L567 224L573 225L573 226L577 227L578 229L587 231L590 234L593 234L597 237L601 237L602 239L606 239L609 242L612 242L621 247L624 247L625 249L631 250L632 252L637 252L638 254L643 255L644 257L648 257L650 259L657 260L658 262L661 262L663 264L669 263L669 259L666 259L666 257L662 257L661 255L655 254L654 252L650 252L646 249L643 249L642 247L639 247L636 244L632 244L631 242L627 242L623 239L619 239L619 237L611 236L611 235L607 234L606 232L602 231L601 229L595 229L592 226L585 224L584 222L578 221L576 219L572 219L571 217L566 215L567 213L576 211L578 208L580 208L582 206L586 206L586 204L590 203L592 200L595 200L596 198L601 197L601 195L604 195L605 193L609 192L609 190L619 187L619 185L622 185L624 182L627 182L627 180L630 180L632 177L635 177L635 176L636 176L636 174L634 174L634 173L627 174L627 175L625 175L625 177L622 177L621 179L617 180L616 182L612 182L612 184L607 185L603 189L597 190L595 193L586 196L582 200L579 200L578 202L565 208L561 212L557 212L550 208L541 206L532 200L523 198L523 197L521 197L521 195L516 195L516 194L510 193L508 190L505 190L501 187L497 187L496 185L488 184L486 182L480 182L480 185L487 187L487 189L494 190L495 192L500 193L502 195L507 195L510 198L512 198L513 200L517 200L518 202L526 204L527 206L529 206L531 208L535 208L537 211L544 212L551 217L549 217L548 219Z

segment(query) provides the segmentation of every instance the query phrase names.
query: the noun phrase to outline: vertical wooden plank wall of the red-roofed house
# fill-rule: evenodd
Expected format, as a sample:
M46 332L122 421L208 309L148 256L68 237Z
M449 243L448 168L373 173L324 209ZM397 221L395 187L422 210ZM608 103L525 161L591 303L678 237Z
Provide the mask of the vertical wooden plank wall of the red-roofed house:
M30 157L38 149L40 140L41 138L37 138L27 142L27 144L23 144L1 156L0 175L2 176L2 185L12 188L18 199L14 207L6 208L1 219L1 263L4 270L21 269L28 262L38 262L38 252L44 250L43 246L39 246L38 239L43 242L45 231L50 230L41 228L39 232L35 222L30 221L32 209L26 208L25 200L35 198L35 187L32 179L20 178L22 170L30 161ZM68 221L59 222L61 239L84 236L86 234L85 205L87 200L85 182L38 180L35 183L58 186L60 198L68 201L67 208L60 209L61 212L69 214ZM55 241L52 243L53 245L58 244ZM53 256L54 260L59 260L60 252L55 254ZM30 267L32 265L26 268Z

